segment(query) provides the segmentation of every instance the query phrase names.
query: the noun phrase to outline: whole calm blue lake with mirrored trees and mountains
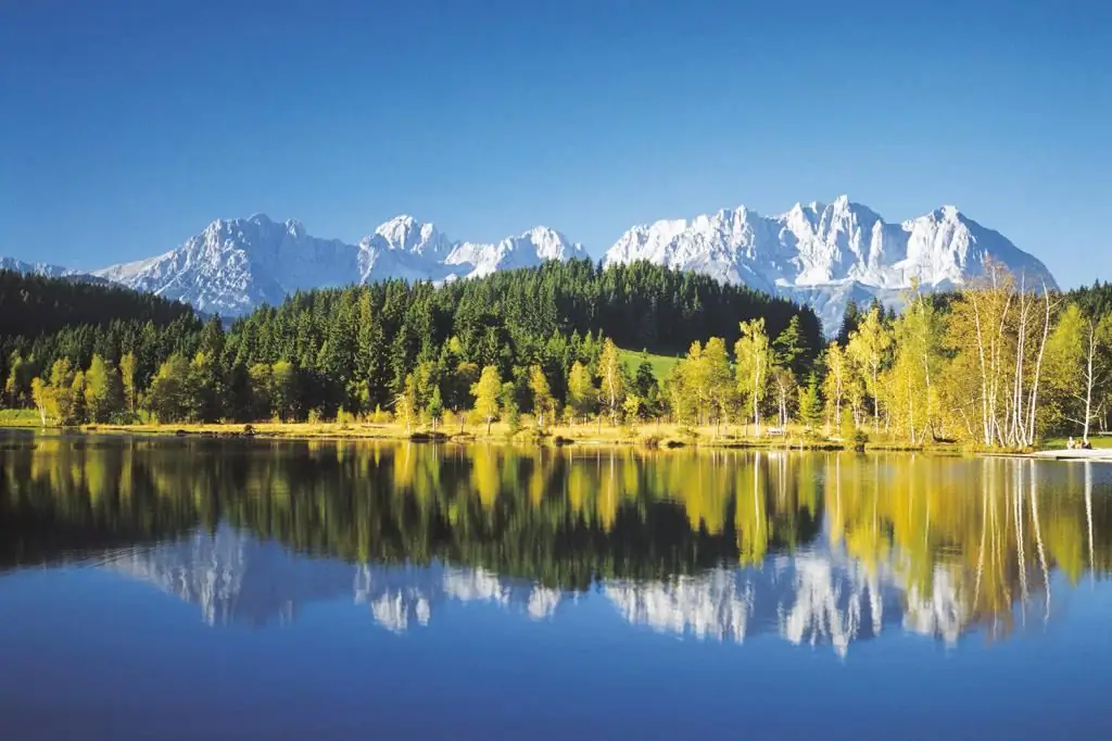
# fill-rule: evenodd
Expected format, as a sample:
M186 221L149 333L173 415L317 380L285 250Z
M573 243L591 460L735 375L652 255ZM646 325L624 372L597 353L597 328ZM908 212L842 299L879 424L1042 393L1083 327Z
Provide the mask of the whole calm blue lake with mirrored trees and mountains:
M1110 739L1112 466L0 436L0 738Z

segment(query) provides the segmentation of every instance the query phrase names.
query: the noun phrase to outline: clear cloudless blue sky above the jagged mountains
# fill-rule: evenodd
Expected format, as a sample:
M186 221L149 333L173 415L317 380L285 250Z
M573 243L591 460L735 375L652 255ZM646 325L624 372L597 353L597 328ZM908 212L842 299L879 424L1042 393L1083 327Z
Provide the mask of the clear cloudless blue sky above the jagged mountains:
M954 204L1112 279L1106 2L0 2L0 255Z

